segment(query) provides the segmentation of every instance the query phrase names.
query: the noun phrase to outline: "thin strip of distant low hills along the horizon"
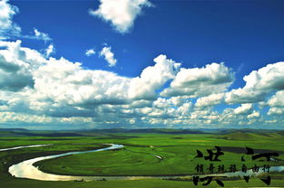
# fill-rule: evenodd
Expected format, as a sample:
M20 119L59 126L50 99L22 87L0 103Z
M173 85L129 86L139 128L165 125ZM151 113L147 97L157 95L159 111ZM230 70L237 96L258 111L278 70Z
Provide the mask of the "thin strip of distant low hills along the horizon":
M279 137L284 136L283 130L255 129L172 129L172 128L143 128L143 129L85 129L85 130L27 130L24 128L0 128L0 136L103 136L107 134L211 134L230 140L250 140L255 136Z

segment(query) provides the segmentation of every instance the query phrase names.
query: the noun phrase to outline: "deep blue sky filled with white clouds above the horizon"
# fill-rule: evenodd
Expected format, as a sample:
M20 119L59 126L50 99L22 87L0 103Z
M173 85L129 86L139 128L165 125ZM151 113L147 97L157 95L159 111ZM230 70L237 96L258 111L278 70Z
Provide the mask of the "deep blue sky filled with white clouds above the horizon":
M284 1L0 0L0 127L284 128Z

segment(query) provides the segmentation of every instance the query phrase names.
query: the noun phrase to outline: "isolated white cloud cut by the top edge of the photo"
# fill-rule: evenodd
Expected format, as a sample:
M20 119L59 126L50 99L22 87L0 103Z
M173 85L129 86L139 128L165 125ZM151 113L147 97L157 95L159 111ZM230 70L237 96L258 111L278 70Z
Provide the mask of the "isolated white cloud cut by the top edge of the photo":
M100 0L96 11L89 11L105 22L110 22L119 33L127 33L136 17L142 13L142 7L152 6L148 0Z

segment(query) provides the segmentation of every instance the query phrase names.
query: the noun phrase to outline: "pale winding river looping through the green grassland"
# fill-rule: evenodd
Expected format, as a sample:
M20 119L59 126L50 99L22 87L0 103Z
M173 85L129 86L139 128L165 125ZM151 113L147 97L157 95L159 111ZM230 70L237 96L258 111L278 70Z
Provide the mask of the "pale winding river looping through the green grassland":
M41 181L93 181L93 180L138 180L138 179L167 179L167 178L190 178L192 175L161 175L161 176L137 176L137 175L123 175L123 176L77 176L77 175L59 175L59 174L48 174L40 171L33 164L39 161L43 161L45 159L52 159L66 155L77 155L77 154L85 154L91 152L100 152L107 151L113 149L122 148L122 145L108 144L109 147L91 150L91 151L82 151L82 152L68 152L60 155L48 155L36 157L34 159L25 160L19 164L13 164L9 167L9 173L18 178L28 178L34 180ZM34 146L49 146L49 145L34 145ZM2 149L0 151L19 149L24 147L34 147L34 146L18 146L12 148ZM161 157L161 156L160 156ZM270 172L282 172L284 171L284 166L271 166ZM243 172L235 172L235 173L224 173L224 174L202 174L202 176L211 175L211 176L242 176L242 175L250 175L256 176L264 173L262 168L260 167L260 171L258 173L253 173L252 170L248 170L247 173Z

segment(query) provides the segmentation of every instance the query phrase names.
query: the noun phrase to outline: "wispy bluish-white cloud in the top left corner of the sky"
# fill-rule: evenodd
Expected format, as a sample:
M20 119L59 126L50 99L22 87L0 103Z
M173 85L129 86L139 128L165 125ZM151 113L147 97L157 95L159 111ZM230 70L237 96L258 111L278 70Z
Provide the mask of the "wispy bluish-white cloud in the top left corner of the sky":
M8 0L0 1L0 40L21 33L21 28L13 23L13 17L18 13L19 9L8 4Z

